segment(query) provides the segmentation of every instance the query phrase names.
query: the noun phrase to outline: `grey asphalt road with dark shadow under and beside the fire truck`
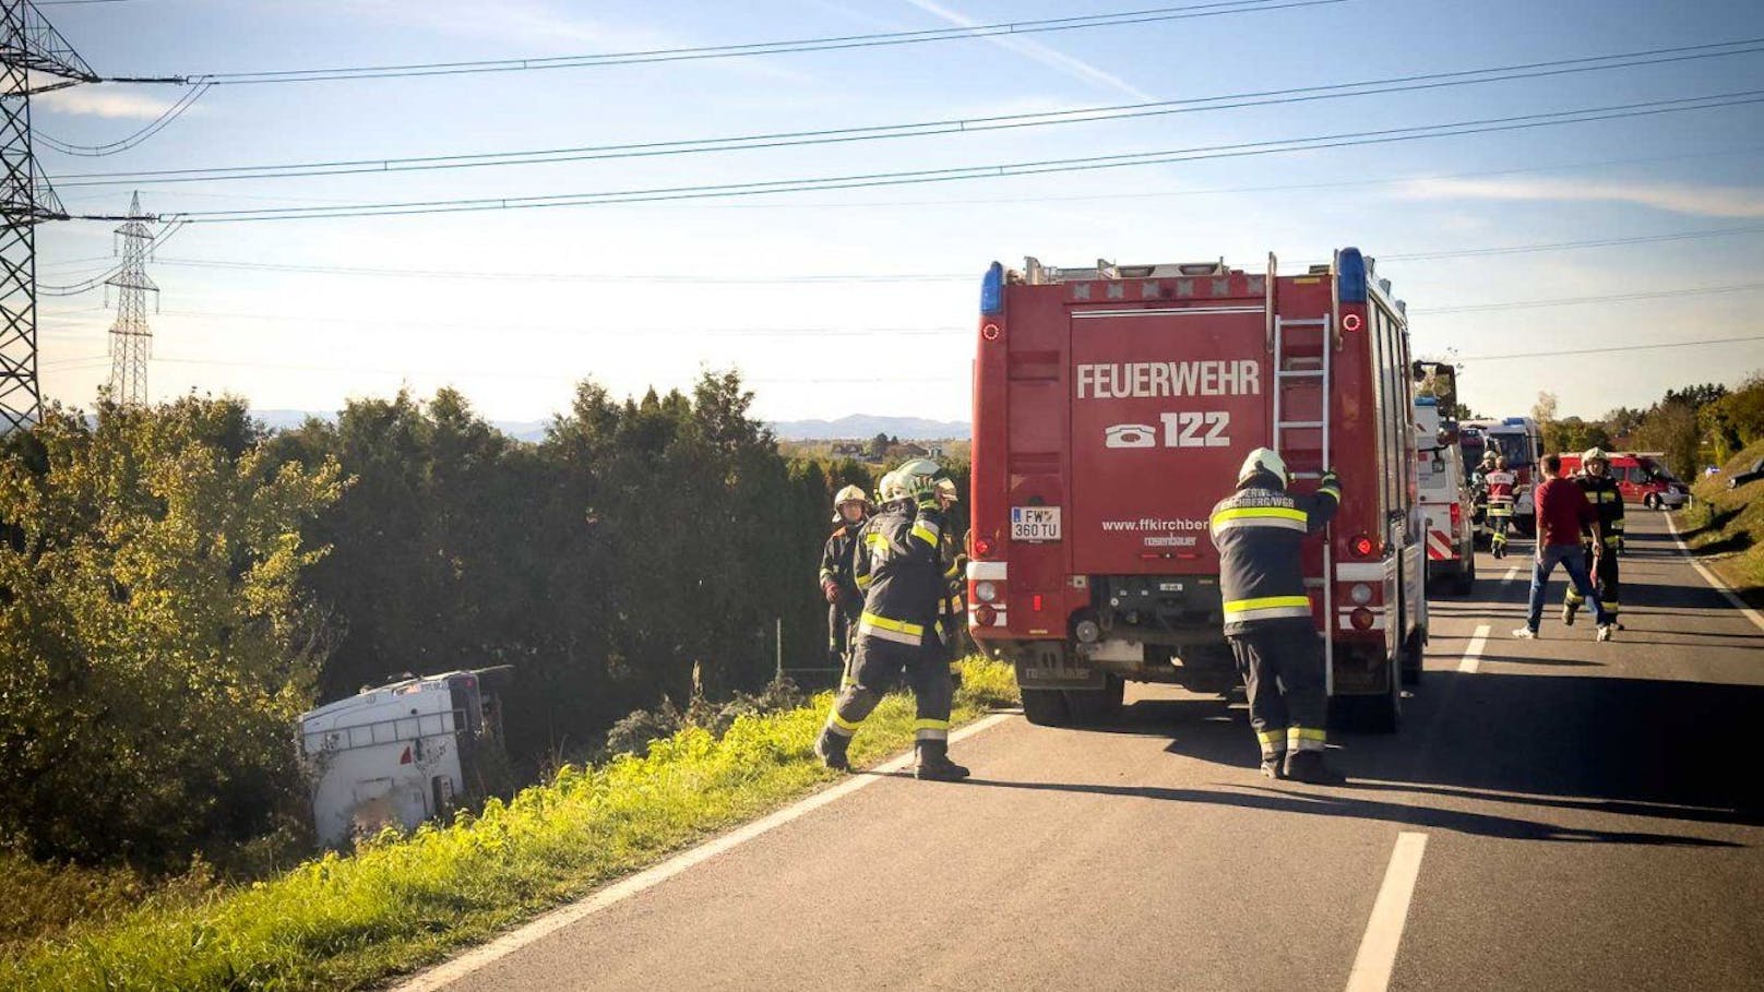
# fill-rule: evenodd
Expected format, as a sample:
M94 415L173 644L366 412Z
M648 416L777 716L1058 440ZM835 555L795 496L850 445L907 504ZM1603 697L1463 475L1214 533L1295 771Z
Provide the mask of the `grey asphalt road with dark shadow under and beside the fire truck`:
M1637 517L1618 641L1554 609L1514 641L1528 545L1484 554L1402 733L1334 736L1344 787L1265 782L1238 701L1134 687L1111 729L1007 718L954 748L972 782L852 791L446 987L1764 988L1764 630Z

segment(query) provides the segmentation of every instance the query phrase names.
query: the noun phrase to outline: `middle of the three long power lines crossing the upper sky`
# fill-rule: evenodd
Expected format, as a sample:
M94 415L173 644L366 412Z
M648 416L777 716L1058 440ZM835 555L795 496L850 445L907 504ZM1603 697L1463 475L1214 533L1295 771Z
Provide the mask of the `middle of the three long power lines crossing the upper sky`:
M928 138L938 134L968 134L968 132L1009 131L1025 127L1050 127L1062 124L1099 124L1113 120L1132 120L1141 116L1245 109L1261 106L1383 95L1397 92L1434 90L1445 86L1468 86L1468 85L1501 83L1514 79L1535 79L1535 78L1563 76L1575 72L1633 69L1641 65L1662 65L1671 62L1722 58L1732 55L1755 55L1759 51L1764 51L1764 37L1695 44L1695 46L1678 46L1678 48L1656 48L1656 49L1628 51L1614 55L1558 58L1549 62L1529 62L1519 65L1496 65L1482 69L1461 69L1452 72L1425 72L1411 76L1394 76L1385 79L1362 79L1353 83L1328 83L1318 86L1293 86L1284 90L1221 94L1212 97L1147 101L1134 104L1076 108L1076 109L1046 111L1046 113L944 118L944 120L924 120L912 124L838 127L838 129L818 129L818 131L783 131L767 134L744 134L732 138L695 138L695 139L674 139L674 141L640 141L624 145L586 145L573 148L538 148L526 152L483 152L483 154L457 154L457 155L411 155L411 157L390 157L390 159L332 159L332 161L280 162L280 164L256 164L256 166L208 166L208 168L182 168L182 169L71 173L62 177L58 182L62 187L79 187L79 185L116 185L116 184L138 184L138 182L169 184L169 182L219 182L219 180L242 180L242 178L300 178L300 177L363 175L363 173L390 173L390 171L531 166L531 164L556 164L556 162L575 162L575 161L691 155L691 154L759 150L759 148L789 148L804 145L834 145L834 143L877 141L877 139L894 139L894 138Z

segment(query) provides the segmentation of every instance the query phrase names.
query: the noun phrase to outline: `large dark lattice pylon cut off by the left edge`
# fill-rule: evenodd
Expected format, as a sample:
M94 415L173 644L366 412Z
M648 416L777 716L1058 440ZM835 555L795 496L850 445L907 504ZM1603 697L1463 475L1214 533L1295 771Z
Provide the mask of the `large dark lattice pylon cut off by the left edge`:
M99 74L30 0L0 0L0 432L37 422L37 224L67 217L37 169L30 97Z

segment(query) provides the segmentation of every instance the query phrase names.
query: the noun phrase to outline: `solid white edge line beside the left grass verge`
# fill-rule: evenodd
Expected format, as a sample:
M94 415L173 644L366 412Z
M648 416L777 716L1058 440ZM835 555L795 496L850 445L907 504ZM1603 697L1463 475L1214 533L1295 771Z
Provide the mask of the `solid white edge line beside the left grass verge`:
M984 717L974 724L968 724L967 727L951 733L949 743L972 738L974 734L986 731L988 727L995 727L1004 720L1009 720L1011 717L1013 717L1011 713L993 713L991 717ZM489 944L482 944L452 960L441 962L436 967L430 967L429 971L423 971L422 974L416 974L409 981L395 987L393 992L434 992L437 988L446 988L453 981L466 978L467 974L478 971L487 964L496 962L497 958L508 957L534 941L540 941L550 934L556 934L557 930L563 930L564 927L570 927L572 923L579 923L593 916L594 913L600 913L602 909L623 902L640 891L651 890L665 883L667 879L672 879L674 876L684 872L686 868L702 865L704 861L709 861L711 858L716 858L725 851L739 847L748 840L760 837L762 833L776 830L806 814L811 814L820 807L836 803L859 789L875 785L877 782L882 782L887 773L901 771L908 764L912 764L912 752L894 757L886 764L870 770L868 773L854 775L845 782L833 785L831 789L824 789L820 793L815 793L813 796L799 800L764 819L757 819L743 826L741 830L725 833L723 837L718 837L714 840L706 840L704 844L691 847L688 851L681 851L679 854L674 854L667 861L662 861L660 865L637 872L628 879L617 881L579 902L572 902L559 909L552 909L545 916L540 916L531 923L517 927L503 934L501 937L490 941Z

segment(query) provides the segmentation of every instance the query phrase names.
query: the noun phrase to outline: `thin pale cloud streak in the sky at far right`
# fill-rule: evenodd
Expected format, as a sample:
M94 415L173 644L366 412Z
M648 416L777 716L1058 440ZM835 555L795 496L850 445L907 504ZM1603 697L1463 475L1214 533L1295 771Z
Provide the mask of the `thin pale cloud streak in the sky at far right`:
M1554 178L1422 178L1399 187L1411 199L1554 199L1628 203L1697 217L1764 217L1764 189L1678 182L1593 182Z

